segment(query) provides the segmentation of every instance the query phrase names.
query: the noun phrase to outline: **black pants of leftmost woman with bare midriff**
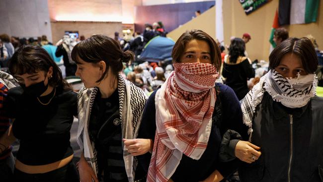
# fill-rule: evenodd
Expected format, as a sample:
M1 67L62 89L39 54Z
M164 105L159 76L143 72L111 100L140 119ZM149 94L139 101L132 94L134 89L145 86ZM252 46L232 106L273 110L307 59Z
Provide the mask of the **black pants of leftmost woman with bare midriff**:
M27 174L14 169L13 182L80 182L73 162L57 170L43 174Z

